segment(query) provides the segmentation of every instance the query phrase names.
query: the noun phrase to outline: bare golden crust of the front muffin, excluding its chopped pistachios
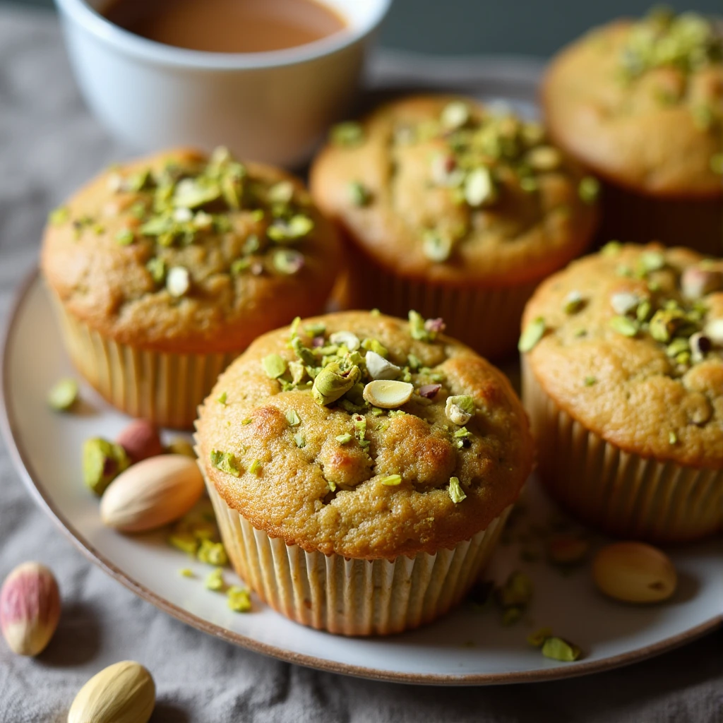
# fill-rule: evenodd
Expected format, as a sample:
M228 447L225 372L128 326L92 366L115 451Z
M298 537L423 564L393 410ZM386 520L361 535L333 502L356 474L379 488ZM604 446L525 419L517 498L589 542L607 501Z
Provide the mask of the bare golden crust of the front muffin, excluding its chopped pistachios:
M346 330L379 341L400 366L415 354L429 367L413 372L415 388L436 373L443 375L442 388L429 403L412 398L401 407L403 415L361 411L369 445L356 437L340 443L338 435L354 435L351 414L338 404L320 406L308 389L282 391L262 359L296 358L289 329L262 336L221 375L197 421L200 463L231 508L257 529L309 552L376 559L451 549L515 502L533 449L526 414L501 372L450 338L415 341L406 322L369 312L304 320L299 330L307 346L312 341L303 329L318 322L328 334ZM468 448L457 448L453 430L459 427L445 416L450 394L474 397ZM301 420L296 426L286 418L291 409ZM299 433L302 448L294 441ZM212 450L232 453L240 476L214 466ZM249 472L254 459L261 463L257 475ZM401 484L382 484L393 474L402 476ZM448 492L451 476L466 494L458 503Z

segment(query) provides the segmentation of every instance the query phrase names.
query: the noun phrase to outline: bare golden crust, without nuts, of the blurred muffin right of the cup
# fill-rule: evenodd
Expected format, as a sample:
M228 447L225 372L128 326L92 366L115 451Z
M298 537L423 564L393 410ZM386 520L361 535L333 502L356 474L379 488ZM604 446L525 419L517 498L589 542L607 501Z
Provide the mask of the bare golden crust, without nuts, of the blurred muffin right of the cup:
M435 181L435 161L449 157L450 136L435 132L433 124L454 102L469 108L475 128L492 117L470 98L419 95L388 103L363 119L361 143L327 145L310 173L317 204L365 253L408 278L510 286L561 268L583 251L596 225L595 204L581 201L578 194L583 172L562 159L554 170L533 174L536 190L531 192L521 187L520 158L513 163L489 158L499 197L491 205L471 208L455 196L454 188ZM518 131L524 126L510 116L500 122L514 124ZM417 136L422 140L395 140L407 128L422 129ZM544 143L543 135L539 143ZM368 203L354 204L352 183L367 189ZM443 262L424 253L423 236L430 229L455 236L453 252Z

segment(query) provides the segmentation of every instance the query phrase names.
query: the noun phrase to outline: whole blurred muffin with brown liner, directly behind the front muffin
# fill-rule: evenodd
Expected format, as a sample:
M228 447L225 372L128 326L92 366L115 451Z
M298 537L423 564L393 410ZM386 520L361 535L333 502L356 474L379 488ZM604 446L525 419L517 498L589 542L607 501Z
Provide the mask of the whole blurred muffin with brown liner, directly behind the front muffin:
M351 305L442 316L485 356L513 351L525 302L585 249L596 181L539 124L425 95L333 129L310 185L351 252Z

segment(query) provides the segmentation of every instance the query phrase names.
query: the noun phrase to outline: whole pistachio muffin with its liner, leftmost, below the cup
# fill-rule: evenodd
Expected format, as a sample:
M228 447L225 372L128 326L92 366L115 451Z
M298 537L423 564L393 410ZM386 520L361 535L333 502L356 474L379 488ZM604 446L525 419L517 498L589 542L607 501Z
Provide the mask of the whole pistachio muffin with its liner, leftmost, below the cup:
M284 171L171 150L51 214L41 267L76 367L122 411L190 427L258 335L320 312L338 236Z

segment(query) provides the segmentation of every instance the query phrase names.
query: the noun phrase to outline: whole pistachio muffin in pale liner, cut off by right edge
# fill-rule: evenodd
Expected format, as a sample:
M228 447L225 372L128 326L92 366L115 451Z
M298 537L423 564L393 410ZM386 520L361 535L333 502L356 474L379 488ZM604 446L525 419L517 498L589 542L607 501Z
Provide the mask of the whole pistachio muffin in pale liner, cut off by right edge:
M542 283L520 348L557 500L636 539L723 530L723 262L608 244Z

